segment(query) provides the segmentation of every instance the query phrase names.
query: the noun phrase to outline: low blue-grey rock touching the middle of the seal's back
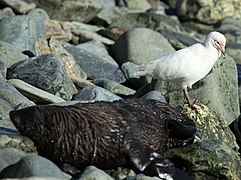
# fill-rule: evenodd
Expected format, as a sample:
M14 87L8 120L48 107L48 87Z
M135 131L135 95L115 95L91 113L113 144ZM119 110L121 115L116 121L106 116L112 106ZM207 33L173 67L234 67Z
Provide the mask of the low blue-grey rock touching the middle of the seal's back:
M85 102L115 101L119 99L121 99L119 96L98 86L88 86L80 90L73 97L73 100L79 100L79 101L85 101Z

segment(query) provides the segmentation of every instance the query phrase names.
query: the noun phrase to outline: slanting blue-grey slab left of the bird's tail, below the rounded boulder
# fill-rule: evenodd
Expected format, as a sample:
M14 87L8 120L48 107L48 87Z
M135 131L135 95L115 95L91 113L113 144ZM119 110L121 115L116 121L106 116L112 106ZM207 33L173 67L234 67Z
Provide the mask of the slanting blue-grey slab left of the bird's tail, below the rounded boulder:
M125 76L120 68L107 60L76 46L66 47L88 78L106 78L116 82L124 82Z

